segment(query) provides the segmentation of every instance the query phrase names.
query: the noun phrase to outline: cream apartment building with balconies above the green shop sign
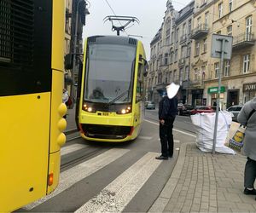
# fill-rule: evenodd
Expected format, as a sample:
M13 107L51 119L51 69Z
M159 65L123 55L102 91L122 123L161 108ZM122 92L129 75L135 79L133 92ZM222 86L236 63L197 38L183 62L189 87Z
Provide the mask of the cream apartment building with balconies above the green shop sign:
M192 33L190 78L192 104L214 105L218 98L218 77L221 72L220 106L244 104L255 96L255 1L250 0L195 0ZM253 26L254 24L254 26ZM212 34L233 37L231 60L211 57ZM196 82L197 80L197 82ZM195 89L195 86L197 89Z

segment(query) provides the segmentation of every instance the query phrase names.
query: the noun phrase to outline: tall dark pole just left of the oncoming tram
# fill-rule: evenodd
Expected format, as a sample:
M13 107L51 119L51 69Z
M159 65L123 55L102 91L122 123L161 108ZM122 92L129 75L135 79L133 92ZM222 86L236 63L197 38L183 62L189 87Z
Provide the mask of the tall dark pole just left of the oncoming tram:
M72 87L70 91L70 95L74 98L74 72L77 70L76 67L76 54L77 54L77 41L78 41L78 22L79 22L79 3L83 2L84 0L79 0L76 7L76 24L75 24L75 32L74 32L74 41L73 41L73 68L71 73L72 78Z

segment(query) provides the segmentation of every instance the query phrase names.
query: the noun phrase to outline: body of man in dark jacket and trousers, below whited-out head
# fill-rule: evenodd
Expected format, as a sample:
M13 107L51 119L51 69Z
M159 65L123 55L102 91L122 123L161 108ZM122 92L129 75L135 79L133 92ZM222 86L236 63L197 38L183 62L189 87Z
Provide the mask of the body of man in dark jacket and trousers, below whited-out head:
M177 115L177 96L169 99L166 93L159 103L161 155L156 159L168 159L173 155L173 122Z

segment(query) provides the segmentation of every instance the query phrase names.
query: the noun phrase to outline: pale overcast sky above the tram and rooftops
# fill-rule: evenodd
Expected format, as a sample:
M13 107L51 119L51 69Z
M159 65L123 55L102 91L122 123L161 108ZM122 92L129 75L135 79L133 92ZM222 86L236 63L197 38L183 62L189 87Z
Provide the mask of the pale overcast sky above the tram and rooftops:
M144 44L147 59L150 57L150 42L159 30L166 11L167 0L88 0L90 14L86 16L84 37L94 35L116 35L111 22L103 19L108 15L135 16L140 21L120 32L121 36L137 35ZM191 0L172 1L174 9L183 9Z

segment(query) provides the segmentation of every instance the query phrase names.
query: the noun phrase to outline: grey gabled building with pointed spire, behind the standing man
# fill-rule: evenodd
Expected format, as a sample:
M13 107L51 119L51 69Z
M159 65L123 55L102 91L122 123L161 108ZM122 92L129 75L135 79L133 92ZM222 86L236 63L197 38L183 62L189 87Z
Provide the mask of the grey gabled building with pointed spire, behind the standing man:
M173 74L170 72L170 51L172 39L172 25L177 11L173 9L172 1L166 3L166 13L160 30L150 43L150 61L148 75L148 100L158 103L167 83L172 82Z

